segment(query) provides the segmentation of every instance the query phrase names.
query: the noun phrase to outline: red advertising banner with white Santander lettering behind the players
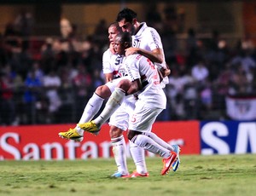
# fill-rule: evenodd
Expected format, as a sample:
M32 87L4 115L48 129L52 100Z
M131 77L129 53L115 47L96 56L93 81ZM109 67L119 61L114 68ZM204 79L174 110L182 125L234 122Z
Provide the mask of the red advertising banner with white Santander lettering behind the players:
M60 131L74 126L53 124L0 127L0 160L97 159L113 156L108 124L102 126L97 136L85 132L82 142L67 141L58 136ZM180 145L183 154L199 154L199 129L197 121L165 122L155 123L153 132L170 144ZM130 157L128 144L127 141L127 157ZM150 153L146 155L152 156Z

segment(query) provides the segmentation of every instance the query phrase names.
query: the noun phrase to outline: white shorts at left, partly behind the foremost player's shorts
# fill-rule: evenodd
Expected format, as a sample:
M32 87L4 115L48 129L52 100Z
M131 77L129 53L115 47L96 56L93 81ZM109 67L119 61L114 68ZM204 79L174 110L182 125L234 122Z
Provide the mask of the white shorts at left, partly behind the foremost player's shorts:
M129 118L135 108L135 102L136 99L133 95L126 96L122 105L113 112L108 124L118 127L121 130L127 130Z

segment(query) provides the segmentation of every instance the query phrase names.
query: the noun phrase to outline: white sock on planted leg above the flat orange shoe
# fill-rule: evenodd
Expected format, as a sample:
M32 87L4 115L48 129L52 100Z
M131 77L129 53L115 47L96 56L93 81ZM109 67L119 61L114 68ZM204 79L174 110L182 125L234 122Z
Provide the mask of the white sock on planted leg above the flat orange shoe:
M145 161L145 152L142 147L138 147L135 143L130 142L130 152L134 164L136 165L136 170L140 174L145 174L148 172L147 165Z

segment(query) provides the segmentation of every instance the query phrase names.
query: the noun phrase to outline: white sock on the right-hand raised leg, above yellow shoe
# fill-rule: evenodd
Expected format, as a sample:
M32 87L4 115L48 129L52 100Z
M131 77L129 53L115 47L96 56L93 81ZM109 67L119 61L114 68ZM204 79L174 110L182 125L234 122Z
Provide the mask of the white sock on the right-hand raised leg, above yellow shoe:
M94 122L98 125L98 127L101 127L102 124L104 124L108 118L111 117L113 112L119 108L125 98L125 92L123 89L115 88L112 95L109 97L108 102L106 103L106 106L104 107L102 113L94 119Z

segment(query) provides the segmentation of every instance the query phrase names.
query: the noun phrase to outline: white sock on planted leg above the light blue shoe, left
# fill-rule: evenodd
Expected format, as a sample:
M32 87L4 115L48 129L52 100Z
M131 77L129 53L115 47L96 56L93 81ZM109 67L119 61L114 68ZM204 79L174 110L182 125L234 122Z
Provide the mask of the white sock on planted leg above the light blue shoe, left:
M113 157L118 171L124 175L127 175L129 172L126 164L125 138L123 135L121 135L118 138L112 138L111 141Z

